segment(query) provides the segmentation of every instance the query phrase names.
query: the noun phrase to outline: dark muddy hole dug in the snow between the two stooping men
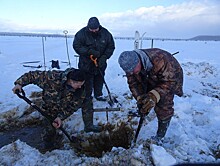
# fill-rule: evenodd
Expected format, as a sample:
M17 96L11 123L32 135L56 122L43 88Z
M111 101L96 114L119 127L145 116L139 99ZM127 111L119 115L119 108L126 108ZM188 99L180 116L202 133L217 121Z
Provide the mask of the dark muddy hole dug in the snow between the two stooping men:
M106 124L101 133L79 133L74 135L78 138L71 146L77 154L85 154L91 157L102 157L105 152L110 152L113 147L130 148L134 130L125 123L116 125Z

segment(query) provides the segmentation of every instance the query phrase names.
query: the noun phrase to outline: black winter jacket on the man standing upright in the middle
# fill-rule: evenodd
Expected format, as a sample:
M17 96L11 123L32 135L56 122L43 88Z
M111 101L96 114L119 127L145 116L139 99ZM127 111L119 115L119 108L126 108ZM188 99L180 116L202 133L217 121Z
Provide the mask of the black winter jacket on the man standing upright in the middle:
M76 33L73 40L73 48L79 54L79 69L95 73L97 68L90 59L89 50L99 51L100 58L105 58L106 62L113 54L115 43L112 34L106 28L100 26L99 31L94 34L89 31L88 27L84 27ZM101 70L105 70L106 67L107 63L105 63Z

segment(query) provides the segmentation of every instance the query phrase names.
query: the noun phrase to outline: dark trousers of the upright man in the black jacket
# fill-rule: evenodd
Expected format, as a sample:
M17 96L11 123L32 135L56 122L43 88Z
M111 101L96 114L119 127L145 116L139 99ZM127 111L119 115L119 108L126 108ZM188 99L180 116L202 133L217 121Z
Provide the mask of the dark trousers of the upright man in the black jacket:
M103 77L105 76L105 71L101 71L103 74ZM102 96L102 88L104 84L102 75L100 72L97 72L96 74L86 73L86 81L85 81L85 88L86 88L86 97L91 98L92 92L94 90L94 96Z

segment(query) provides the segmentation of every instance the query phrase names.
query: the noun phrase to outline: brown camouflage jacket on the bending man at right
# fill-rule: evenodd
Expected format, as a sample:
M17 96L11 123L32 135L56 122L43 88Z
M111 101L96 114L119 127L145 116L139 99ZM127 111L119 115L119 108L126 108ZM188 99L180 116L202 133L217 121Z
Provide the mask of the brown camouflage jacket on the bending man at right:
M133 96L156 90L161 97L167 94L183 95L183 71L178 61L167 51L153 48L142 49L149 57L153 67L149 72L144 69L138 75L127 75Z

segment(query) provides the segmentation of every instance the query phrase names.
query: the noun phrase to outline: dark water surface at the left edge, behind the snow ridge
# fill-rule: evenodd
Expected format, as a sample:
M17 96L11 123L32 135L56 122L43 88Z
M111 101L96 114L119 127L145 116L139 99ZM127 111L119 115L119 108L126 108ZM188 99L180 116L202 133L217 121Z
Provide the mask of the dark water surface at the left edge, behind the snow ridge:
M43 126L41 124L0 132L0 148L20 139L29 146L44 152L44 143L41 140L42 132Z

